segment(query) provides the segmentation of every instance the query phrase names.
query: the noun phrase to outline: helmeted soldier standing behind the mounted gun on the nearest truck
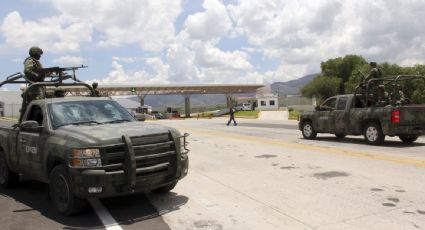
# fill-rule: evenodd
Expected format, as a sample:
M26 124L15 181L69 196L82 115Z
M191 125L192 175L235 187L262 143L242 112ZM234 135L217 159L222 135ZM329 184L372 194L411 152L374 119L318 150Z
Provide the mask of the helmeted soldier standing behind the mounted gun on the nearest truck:
M39 47L31 47L29 50L29 57L27 57L24 61L24 74L25 77L30 81L30 85L34 82L42 82L44 81L44 73L41 71L43 69L43 65L40 63L41 55L43 54L43 50ZM43 98L43 89L41 87L32 88L28 92L28 102L34 99L42 99Z

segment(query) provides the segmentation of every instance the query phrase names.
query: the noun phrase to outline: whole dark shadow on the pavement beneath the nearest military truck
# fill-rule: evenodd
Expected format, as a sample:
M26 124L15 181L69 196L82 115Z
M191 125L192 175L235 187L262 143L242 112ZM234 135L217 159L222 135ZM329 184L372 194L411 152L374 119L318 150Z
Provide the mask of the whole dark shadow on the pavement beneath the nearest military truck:
M127 225L126 229L169 229L161 215L178 210L188 201L186 196L172 192L163 195L149 195L156 197L157 200L165 201L165 205L157 210L145 194L105 198L101 199L101 202L118 224ZM10 201L10 199L13 199L13 201ZM26 207L22 208L22 204ZM48 185L37 181L23 179L14 189L0 188L0 205L2 206L2 210L0 210L2 217L0 219L17 220L18 226L16 227L18 229L21 229L21 227L25 229L28 224L31 224L29 229L32 229L34 226L39 226L40 223L46 223L45 218L57 223L57 225L39 226L40 229L104 229L103 224L91 207L78 216L61 216L50 201ZM34 212L37 214L34 215ZM38 213L40 213L40 217L38 217ZM28 221L31 218L32 220ZM25 226L19 226L19 224L25 224ZM32 226L33 224L34 226ZM0 229L2 228L0 227Z

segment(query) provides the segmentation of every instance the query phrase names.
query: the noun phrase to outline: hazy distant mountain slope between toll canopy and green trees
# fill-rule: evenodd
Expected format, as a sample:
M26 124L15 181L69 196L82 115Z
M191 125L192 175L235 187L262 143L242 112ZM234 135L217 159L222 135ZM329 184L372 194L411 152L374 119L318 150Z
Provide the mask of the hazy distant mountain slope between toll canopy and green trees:
M317 75L318 74L310 74L292 81L275 82L271 84L272 92L279 92L280 96L301 94L301 88L313 80Z

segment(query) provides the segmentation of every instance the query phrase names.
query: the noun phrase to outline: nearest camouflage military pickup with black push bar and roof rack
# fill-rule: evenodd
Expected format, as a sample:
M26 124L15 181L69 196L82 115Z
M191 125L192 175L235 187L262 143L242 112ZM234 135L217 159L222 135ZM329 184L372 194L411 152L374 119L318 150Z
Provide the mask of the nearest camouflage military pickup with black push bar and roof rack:
M6 81L21 82L20 77ZM18 123L0 127L3 188L15 186L20 174L48 183L54 206L69 216L82 211L87 198L168 192L187 175L187 134L138 122L79 81L33 83L24 101L35 86L45 91L82 86L89 94L32 100L23 104Z

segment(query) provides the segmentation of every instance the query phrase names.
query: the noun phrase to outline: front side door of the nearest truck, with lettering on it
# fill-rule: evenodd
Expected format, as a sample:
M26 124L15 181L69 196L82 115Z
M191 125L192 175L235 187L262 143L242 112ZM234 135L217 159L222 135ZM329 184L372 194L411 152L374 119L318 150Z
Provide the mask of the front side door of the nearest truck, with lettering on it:
M37 121L42 126L44 119L43 110L39 105L32 105L28 114L23 121ZM33 177L41 174L41 159L42 159L42 147L44 142L42 141L41 132L28 132L19 131L18 134L18 167L23 173L27 173Z

